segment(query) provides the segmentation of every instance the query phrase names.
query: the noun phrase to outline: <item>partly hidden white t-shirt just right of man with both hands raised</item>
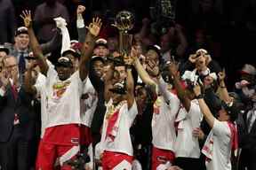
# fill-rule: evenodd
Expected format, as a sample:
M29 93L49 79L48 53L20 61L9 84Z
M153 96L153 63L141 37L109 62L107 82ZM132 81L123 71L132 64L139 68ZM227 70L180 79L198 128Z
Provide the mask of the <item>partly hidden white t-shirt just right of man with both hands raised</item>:
M83 95L80 100L81 123L91 128L92 117L97 107L98 96L89 78L84 82Z

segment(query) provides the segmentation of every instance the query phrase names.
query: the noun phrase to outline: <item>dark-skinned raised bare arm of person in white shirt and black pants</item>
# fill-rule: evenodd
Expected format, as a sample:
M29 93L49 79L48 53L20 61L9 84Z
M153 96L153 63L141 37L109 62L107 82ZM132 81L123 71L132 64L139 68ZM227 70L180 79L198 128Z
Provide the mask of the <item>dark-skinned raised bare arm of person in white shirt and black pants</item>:
M169 65L169 72L171 73L174 88L177 90L177 95L185 107L186 111L189 112L191 100L186 95L185 89L182 88L180 83L180 76L178 74L178 66L173 62Z

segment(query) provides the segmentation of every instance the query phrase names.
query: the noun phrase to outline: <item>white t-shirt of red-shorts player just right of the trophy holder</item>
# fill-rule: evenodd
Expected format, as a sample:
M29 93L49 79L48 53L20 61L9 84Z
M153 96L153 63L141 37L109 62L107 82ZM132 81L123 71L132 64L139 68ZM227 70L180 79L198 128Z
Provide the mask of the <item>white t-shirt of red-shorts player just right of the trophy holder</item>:
M174 120L180 108L180 100L164 86L164 80L160 80L159 89L164 90L164 96L157 97L152 119L153 145L162 150L174 151L176 133ZM157 111L159 107L159 111Z

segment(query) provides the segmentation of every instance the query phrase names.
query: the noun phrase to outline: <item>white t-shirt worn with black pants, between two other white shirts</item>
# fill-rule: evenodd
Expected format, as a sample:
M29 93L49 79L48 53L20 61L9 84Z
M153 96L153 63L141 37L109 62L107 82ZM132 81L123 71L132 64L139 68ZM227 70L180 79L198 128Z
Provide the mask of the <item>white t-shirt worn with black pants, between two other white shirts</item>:
M178 125L178 135L175 143L175 156L183 158L199 158L200 148L198 138L193 136L193 129L200 127L203 114L200 110L197 100L192 100L189 112L184 107L175 121L180 122Z

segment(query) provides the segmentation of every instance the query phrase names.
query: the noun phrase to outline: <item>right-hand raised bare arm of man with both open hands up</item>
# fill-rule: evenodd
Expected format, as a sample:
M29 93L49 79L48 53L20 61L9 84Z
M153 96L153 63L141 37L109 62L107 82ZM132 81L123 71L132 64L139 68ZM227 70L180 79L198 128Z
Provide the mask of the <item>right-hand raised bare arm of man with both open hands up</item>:
M82 48L82 55L79 63L80 79L84 81L89 71L89 60L92 57L92 51L94 48L96 37L100 34L101 19L92 19L92 23L89 25L88 33L85 37L85 42Z

